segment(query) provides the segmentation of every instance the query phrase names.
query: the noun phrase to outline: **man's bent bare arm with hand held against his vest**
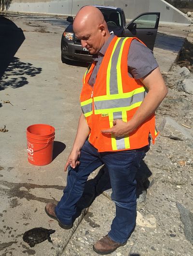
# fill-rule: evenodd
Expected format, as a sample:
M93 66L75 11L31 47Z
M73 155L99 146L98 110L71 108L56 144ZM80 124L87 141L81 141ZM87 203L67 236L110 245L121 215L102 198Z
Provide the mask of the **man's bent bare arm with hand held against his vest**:
M103 130L103 133L113 133L117 137L132 133L155 112L163 101L167 94L167 88L159 68L154 69L150 74L141 78L140 81L148 89L148 93L133 118L128 122L114 120L114 126L108 130Z

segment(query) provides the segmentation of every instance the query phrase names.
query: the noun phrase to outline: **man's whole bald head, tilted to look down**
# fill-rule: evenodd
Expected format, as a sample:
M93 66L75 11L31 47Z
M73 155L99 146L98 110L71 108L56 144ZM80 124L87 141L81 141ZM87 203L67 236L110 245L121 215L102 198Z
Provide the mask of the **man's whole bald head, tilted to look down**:
M110 36L101 11L94 6L84 6L73 22L73 31L91 54L98 53Z

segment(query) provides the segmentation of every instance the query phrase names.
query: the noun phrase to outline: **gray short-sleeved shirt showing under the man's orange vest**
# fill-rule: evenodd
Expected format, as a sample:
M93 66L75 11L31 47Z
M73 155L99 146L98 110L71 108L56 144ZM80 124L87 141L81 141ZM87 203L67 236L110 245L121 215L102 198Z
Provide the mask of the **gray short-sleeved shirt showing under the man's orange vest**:
M98 55L93 56L93 60L96 61L96 66L93 69L91 77L88 81L89 85L93 86L96 80L98 69L103 60L105 52L110 45L111 40L114 38L114 34L111 34L107 42L103 45ZM145 45L141 44L138 40L131 42L128 58L128 75L135 79L139 79L148 75L152 70L158 67L158 63L153 56L152 50Z

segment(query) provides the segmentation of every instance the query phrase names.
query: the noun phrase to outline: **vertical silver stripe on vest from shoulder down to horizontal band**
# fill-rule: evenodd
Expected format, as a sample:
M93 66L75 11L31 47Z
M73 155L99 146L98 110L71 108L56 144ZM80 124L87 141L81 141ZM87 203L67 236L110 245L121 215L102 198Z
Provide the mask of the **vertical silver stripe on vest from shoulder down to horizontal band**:
M116 49L112 55L111 59L111 69L110 69L110 94L118 93L117 85L117 61L120 53L121 45L123 44L125 38L121 38L116 46Z

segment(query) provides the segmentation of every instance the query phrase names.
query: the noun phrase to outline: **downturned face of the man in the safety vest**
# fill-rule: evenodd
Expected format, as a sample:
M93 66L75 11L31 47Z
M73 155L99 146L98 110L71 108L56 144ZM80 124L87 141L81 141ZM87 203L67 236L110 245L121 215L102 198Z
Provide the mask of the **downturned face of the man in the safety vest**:
M86 47L90 54L98 53L104 45L103 32L99 27L87 26L80 31L75 31L75 35L81 40L82 47Z

